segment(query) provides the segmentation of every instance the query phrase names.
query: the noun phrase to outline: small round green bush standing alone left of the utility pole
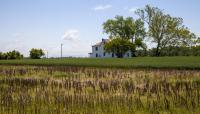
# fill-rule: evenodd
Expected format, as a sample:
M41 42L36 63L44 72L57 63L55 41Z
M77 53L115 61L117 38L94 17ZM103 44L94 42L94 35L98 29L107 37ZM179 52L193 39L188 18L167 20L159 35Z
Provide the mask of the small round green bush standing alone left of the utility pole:
M31 59L40 59L42 56L44 56L44 52L42 49L31 49L30 50L30 58Z

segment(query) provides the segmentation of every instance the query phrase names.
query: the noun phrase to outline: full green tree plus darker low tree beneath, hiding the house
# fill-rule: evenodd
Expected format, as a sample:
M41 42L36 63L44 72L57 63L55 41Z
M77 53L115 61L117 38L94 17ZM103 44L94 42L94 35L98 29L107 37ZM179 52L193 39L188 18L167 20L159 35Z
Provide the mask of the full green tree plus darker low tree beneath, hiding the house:
M132 17L124 18L123 16L116 16L115 19L107 20L103 24L103 29L104 32L110 36L111 40L117 38L116 40L111 41L105 49L115 53L119 58L123 56L125 53L124 51L128 51L126 50L127 48L129 48L134 55L135 47L145 47L142 40L144 39L146 32L144 22L141 19L134 20ZM130 44L130 40L132 40L133 45Z

